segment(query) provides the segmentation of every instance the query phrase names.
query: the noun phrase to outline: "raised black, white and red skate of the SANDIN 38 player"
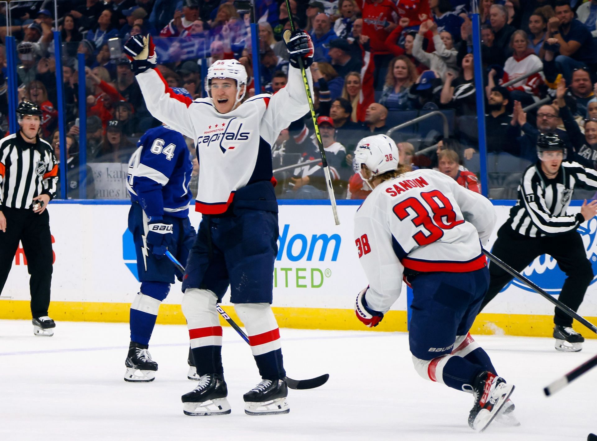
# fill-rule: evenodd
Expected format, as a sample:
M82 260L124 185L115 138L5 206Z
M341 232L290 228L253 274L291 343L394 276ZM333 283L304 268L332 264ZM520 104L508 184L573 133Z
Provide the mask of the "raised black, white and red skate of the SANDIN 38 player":
M470 410L469 425L474 430L484 431L512 394L514 386L488 371L480 372L471 385L475 405Z

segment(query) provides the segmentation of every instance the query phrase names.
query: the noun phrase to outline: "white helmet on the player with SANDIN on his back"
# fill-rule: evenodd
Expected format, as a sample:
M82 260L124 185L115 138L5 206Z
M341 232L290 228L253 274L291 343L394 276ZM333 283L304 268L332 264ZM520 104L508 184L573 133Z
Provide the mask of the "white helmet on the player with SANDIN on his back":
M362 175L362 165L367 165L374 177L398 168L398 147L394 140L386 135L362 138L355 149L353 166L355 172L367 182Z

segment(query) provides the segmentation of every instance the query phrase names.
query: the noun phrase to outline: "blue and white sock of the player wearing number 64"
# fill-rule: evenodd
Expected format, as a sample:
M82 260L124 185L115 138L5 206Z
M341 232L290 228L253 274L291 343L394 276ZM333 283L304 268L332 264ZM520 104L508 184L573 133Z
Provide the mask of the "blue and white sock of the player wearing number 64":
M159 305L168 295L168 291L170 291L169 283L141 283L141 292L131 304L131 341L143 345L149 344L155 320L158 318Z

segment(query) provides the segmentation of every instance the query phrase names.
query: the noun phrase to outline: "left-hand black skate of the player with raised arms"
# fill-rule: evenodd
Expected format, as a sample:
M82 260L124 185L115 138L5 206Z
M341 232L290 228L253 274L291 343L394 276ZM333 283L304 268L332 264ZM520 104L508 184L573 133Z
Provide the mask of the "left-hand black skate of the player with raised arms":
M182 396L183 413L192 417L229 414L227 396L228 387L221 375L201 375L197 387Z

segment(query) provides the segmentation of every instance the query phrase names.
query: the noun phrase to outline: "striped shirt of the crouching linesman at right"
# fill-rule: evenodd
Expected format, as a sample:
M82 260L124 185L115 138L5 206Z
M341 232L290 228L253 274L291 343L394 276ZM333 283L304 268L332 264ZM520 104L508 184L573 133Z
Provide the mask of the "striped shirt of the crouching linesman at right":
M518 201L506 223L530 238L576 230L584 222L583 216L567 214L575 186L597 189L597 171L578 162L562 162L558 175L548 179L540 163L528 166L518 187Z

